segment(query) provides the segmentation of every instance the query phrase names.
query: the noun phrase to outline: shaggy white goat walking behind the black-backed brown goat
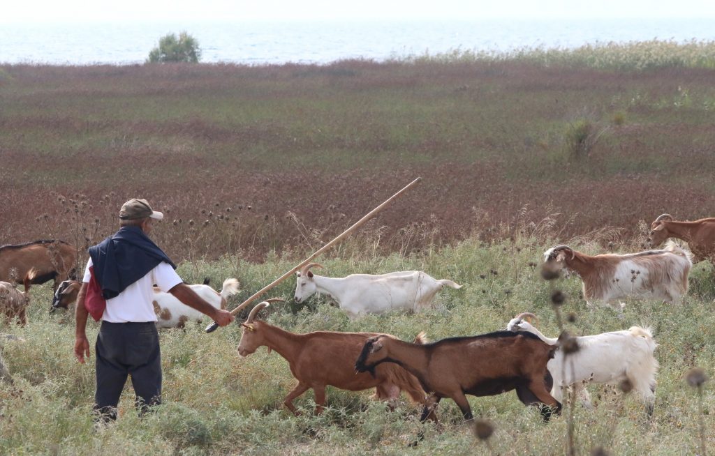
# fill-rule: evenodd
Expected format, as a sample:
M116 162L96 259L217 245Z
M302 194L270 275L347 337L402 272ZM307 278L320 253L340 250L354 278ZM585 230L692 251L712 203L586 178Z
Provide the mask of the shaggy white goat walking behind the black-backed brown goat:
M536 318L533 313L521 313L506 325L509 331L527 331L549 345L558 345L558 339L547 338L534 328L528 320ZM565 358L563 350L557 350L546 367L553 377L551 395L561 402L564 387L576 388L581 403L592 408L591 399L585 388L586 382L619 383L631 382L653 413L656 390L658 361L653 352L658 346L653 340L650 328L631 326L624 331L583 335L576 337L578 351ZM566 365L564 365L566 363Z

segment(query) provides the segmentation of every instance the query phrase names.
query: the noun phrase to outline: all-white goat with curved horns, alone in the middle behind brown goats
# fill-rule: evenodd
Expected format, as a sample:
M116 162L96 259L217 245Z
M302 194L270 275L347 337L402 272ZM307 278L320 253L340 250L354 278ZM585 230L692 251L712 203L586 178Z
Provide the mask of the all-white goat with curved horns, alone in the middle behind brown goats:
M459 289L452 280L436 280L418 270L381 275L352 274L343 278L315 275L310 268L318 263L310 263L296 272L295 302L300 303L313 293L325 293L337 300L342 310L356 317L361 313L383 313L404 308L419 311L432 305L435 295L449 286Z

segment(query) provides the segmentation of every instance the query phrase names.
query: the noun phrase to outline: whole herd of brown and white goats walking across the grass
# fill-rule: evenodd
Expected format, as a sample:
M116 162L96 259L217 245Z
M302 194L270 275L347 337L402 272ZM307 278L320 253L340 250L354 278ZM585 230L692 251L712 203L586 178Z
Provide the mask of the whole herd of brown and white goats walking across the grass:
M664 214L651 224L649 248L666 238L681 238L689 244L696 260L712 259L715 253L715 218L694 222L674 221ZM670 241L662 250L646 250L626 255L586 255L557 245L544 253L544 270L569 270L583 281L583 297L593 302L616 303L625 297L643 297L677 302L688 289L692 266L691 253ZM51 308L67 306L77 298L79 283L69 280L75 265L74 248L61 241L41 240L0 248L0 280L21 278L25 291L17 285L0 282L0 308L6 320L26 323L27 290L34 283L54 279ZM443 287L460 288L452 280L435 280L423 272L406 271L383 275L354 274L327 278L312 272L320 267L310 263L297 273L295 302L313 293L325 293L337 300L351 317L365 313L384 313L397 308L419 311L429 307ZM220 292L204 283L192 285L202 298L225 308L227 298L238 292L238 282L227 279ZM292 412L292 401L312 388L316 412L325 406L325 387L345 390L375 387L375 397L390 402L401 391L423 404L422 419L436 419L440 399L449 397L460 407L466 420L472 412L465 395L498 395L516 390L526 405L536 404L545 420L561 410L563 390L572 387L581 402L591 407L586 382L613 383L628 380L646 402L649 414L655 399L656 343L647 328L571 338L548 338L533 325L536 318L522 313L506 330L470 337L447 338L428 343L424 335L413 343L393 335L378 333L338 333L317 331L290 333L257 319L260 310L272 300L256 305L242 323L238 348L244 357L257 348L275 350L290 364L298 380L285 397ZM172 295L156 291L154 299L157 325L183 326L200 316ZM619 309L623 304L619 306ZM574 349L576 347L576 349ZM568 366L566 366L568 357Z

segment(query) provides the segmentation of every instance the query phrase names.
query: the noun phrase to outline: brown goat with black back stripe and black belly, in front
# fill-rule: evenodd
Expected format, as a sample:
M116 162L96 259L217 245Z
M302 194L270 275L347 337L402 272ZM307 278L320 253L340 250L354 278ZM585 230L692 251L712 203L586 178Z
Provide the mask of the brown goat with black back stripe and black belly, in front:
M430 392L423 420L443 397L454 400L465 420L471 420L472 410L465 395L491 396L511 390L516 390L526 405L541 402L558 412L561 404L548 392L551 376L546 369L554 351L536 335L511 331L448 338L425 345L376 335L365 341L355 370L377 372L383 363L395 363L415 375L423 390Z

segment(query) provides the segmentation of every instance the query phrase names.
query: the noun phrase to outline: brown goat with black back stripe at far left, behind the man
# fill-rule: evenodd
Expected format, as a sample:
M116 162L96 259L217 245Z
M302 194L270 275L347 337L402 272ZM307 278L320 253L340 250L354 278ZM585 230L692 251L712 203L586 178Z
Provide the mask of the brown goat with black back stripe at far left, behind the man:
M0 280L17 282L31 268L36 270L31 285L54 280L52 290L74 274L77 253L61 240L35 240L19 245L0 247ZM14 278L11 277L14 275ZM25 286L27 291L27 285Z

